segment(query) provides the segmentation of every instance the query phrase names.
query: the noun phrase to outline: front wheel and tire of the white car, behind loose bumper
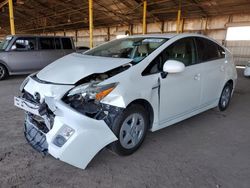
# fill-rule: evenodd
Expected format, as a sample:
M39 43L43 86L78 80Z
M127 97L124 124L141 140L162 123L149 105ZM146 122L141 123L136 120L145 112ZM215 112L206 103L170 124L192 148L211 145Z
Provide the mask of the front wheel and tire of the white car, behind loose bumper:
M141 105L131 105L114 121L112 131L118 140L110 145L118 155L134 153L145 139L149 127L149 116Z

